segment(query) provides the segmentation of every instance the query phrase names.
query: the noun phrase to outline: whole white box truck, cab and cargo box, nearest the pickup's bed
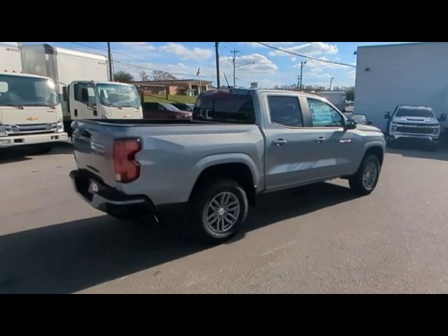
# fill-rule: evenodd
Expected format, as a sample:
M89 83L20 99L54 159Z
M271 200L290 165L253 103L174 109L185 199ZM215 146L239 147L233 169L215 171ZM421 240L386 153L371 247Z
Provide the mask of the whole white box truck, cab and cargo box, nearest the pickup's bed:
M23 72L52 78L62 102L64 127L76 119L142 119L134 85L109 81L108 59L49 44L22 45Z

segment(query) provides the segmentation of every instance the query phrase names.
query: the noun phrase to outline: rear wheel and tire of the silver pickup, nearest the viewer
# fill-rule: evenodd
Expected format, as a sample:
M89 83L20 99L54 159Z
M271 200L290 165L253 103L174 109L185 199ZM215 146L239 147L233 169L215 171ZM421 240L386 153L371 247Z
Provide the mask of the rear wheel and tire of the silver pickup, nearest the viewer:
M216 207L211 205L213 203ZM222 207L223 204L230 207ZM190 239L220 244L239 232L246 221L248 200L246 192L237 182L209 179L202 183L188 208L187 228Z

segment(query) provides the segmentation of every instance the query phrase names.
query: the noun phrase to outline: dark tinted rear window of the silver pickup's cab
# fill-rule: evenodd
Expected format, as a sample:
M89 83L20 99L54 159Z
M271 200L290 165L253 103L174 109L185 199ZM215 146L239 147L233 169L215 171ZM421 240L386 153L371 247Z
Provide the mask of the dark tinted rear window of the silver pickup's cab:
M207 94L197 99L193 120L220 123L255 123L252 97L248 94Z

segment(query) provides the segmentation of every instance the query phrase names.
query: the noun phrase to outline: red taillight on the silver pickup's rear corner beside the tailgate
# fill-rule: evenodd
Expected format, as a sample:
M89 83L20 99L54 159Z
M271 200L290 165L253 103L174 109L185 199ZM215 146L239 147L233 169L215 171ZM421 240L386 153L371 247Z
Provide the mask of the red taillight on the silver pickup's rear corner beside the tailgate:
M135 161L135 155L139 151L141 151L139 139L113 141L113 169L118 182L129 183L140 176L140 165Z

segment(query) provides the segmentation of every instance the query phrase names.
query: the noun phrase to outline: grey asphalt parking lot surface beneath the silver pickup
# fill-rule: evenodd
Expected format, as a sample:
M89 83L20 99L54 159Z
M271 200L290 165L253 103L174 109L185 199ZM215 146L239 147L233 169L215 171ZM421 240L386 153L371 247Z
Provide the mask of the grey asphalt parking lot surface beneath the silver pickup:
M389 149L344 180L265 195L227 244L126 223L71 188L69 144L0 158L0 293L447 293L448 146Z

